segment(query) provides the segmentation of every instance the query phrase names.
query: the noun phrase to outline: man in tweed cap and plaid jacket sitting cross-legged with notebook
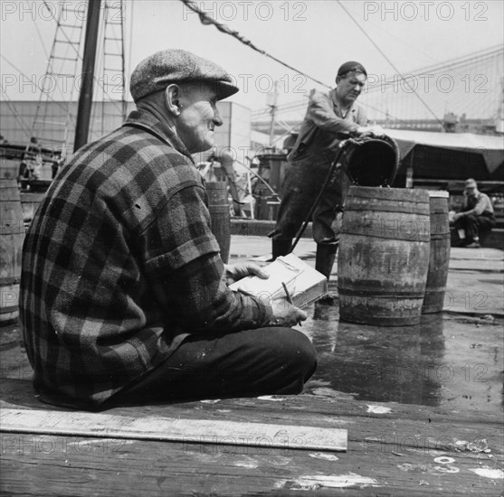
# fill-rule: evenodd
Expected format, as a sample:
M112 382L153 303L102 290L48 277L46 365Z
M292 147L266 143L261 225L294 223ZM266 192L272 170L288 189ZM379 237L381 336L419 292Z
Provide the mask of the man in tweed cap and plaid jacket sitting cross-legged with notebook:
M157 52L133 71L137 110L83 146L24 241L20 316L47 402L300 393L315 370L307 314L233 292L260 267L225 267L191 154L214 145L217 100L238 89L212 61Z

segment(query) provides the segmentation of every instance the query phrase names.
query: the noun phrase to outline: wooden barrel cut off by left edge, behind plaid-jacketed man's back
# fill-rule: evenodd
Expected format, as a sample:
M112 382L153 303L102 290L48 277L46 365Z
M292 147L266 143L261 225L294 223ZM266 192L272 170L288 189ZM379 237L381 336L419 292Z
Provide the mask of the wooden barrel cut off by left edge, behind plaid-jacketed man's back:
M0 325L5 325L19 315L24 223L15 180L0 180L0 220Z

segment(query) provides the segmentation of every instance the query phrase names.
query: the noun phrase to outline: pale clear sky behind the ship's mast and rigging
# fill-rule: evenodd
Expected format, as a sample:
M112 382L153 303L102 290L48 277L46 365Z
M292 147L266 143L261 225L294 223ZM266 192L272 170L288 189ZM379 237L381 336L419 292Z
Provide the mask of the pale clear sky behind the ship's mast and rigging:
M3 99L39 98L37 84L45 73L56 28L52 14L61 4L62 0L46 0L45 5L43 0L0 2ZM73 4L82 11L85 2L74 0ZM300 101L310 89L321 88L214 26L202 24L178 0L126 0L126 4L127 74L153 52L181 48L222 65L241 89L231 100L252 110L271 103L268 94L275 80L281 81L279 105ZM504 2L500 0L214 0L195 4L258 48L328 86L334 85L338 66L345 61L359 61L369 74L388 76L395 70L407 73L504 43Z

